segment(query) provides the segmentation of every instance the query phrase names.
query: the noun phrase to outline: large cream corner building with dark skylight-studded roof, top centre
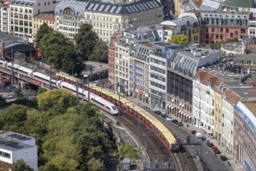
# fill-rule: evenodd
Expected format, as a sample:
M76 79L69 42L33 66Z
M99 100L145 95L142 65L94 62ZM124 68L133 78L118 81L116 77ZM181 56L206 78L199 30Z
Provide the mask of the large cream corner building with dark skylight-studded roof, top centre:
M85 22L92 24L93 31L106 42L114 31L153 26L163 21L163 6L156 0L128 4L91 1L84 12Z

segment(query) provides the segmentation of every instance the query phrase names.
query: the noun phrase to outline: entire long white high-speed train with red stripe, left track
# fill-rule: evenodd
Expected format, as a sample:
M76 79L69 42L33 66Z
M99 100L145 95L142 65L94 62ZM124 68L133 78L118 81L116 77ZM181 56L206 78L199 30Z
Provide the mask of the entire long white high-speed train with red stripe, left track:
M30 68L26 68L26 67L23 67L23 66L17 65L17 64L12 65L11 62L2 61L2 60L0 60L0 66L2 68L8 67L10 69L13 66L13 69L15 70L15 72L18 72L21 75L26 75L26 76L30 77L31 79L37 79L38 81L44 82L47 84L49 84L49 82L51 80L53 86L56 86L58 88L68 89L69 91L72 91L72 92L76 92L76 87L74 85L69 84L68 82L51 79L49 75L44 75L40 72L35 72ZM88 91L87 90L78 88L78 95L82 99L88 100ZM89 93L89 100L91 103L95 104L96 106L99 106L103 110L106 110L110 114L113 114L113 115L118 114L117 106L115 106L113 103L110 103L106 99L103 99L102 97L97 96L93 92Z

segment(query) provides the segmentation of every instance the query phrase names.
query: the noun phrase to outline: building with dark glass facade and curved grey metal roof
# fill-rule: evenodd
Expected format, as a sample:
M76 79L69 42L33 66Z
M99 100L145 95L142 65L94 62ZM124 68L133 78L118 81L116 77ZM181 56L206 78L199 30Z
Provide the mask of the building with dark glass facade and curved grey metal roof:
M171 106L171 114L193 123L193 78L199 67L215 63L220 57L219 52L191 49L170 54L167 63L167 103Z

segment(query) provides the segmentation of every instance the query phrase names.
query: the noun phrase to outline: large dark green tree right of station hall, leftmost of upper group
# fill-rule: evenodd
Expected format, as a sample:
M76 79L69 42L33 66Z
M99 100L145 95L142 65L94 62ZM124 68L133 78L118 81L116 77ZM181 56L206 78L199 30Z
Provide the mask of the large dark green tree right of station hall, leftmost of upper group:
M82 72L84 68L82 58L77 57L74 45L66 40L62 33L58 31L47 33L41 38L39 44L42 59L47 64L51 63L62 72L71 74L72 66L79 63L74 72L78 74Z

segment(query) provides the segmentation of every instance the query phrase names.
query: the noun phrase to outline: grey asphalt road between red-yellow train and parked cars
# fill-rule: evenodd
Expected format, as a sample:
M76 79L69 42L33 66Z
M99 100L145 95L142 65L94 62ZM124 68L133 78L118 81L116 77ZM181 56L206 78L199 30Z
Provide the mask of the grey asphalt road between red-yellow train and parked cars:
M226 171L226 170L233 170L232 168L227 168L223 161L219 159L219 155L215 155L214 152L212 152L212 149L209 148L207 145L205 145L200 138L196 138L195 135L191 134L191 130L184 127L179 127L177 124L172 123L171 121L168 121L164 119L163 117L160 117L155 114L155 116L161 120L163 124L166 125L167 128L169 128L171 131L174 132L174 134L177 134L181 140L185 141L186 138L189 136L191 142L199 142L202 143L202 166L204 171ZM192 150L195 152L196 155L200 155L200 146L198 145L189 145ZM200 156L199 156L200 157Z

